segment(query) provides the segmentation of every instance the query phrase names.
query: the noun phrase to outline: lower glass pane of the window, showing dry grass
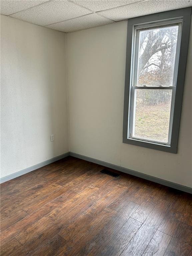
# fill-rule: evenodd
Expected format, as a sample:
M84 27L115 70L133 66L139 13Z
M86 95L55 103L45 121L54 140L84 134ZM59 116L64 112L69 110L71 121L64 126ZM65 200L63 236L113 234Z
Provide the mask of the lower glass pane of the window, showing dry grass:
M133 137L168 143L172 90L136 89Z

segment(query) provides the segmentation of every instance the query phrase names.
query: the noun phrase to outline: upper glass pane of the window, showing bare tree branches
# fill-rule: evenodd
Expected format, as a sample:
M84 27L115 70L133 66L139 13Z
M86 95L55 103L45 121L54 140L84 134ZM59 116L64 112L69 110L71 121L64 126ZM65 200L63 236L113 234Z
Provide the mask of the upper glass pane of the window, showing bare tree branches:
M138 86L173 86L178 25L139 31Z

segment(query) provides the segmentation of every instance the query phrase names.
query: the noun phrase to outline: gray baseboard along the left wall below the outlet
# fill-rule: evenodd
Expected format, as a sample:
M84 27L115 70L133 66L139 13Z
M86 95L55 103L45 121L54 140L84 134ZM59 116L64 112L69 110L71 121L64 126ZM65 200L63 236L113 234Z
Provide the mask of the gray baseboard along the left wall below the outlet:
M14 179L14 178L17 178L17 177L19 177L19 176L21 176L21 175L23 175L23 174L26 174L26 173L28 173L28 172L34 171L34 170L36 170L36 169L38 169L38 168L41 168L41 167L43 167L43 166L45 166L45 165L51 164L51 163L53 163L53 162L55 162L55 161L58 161L58 160L60 160L60 159L65 158L65 157L67 157L67 156L69 156L69 155L70 155L70 152L67 152L67 153L62 154L62 155L60 155L60 156L53 157L53 158L48 159L48 160L46 160L46 161L44 161L44 162L41 162L41 163L39 163L39 164L33 165L33 166L28 167L28 168L26 168L26 169L23 169L23 170L21 170L21 171L18 171L18 172L15 172L15 173L13 173L13 174L10 174L10 175L7 175L7 176L5 176L5 177L2 177L2 178L0 178L0 183L3 183L3 182L8 181L8 180L12 180L12 179Z

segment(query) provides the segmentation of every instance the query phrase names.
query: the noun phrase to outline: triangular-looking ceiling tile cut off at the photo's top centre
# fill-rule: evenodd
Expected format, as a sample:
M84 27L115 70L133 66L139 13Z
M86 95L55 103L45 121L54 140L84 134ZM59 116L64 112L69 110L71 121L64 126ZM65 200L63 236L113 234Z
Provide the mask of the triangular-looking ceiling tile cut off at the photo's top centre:
M142 0L72 0L73 2L80 4L94 12L102 11L126 4L135 3ZM143 0L144 1L144 0Z

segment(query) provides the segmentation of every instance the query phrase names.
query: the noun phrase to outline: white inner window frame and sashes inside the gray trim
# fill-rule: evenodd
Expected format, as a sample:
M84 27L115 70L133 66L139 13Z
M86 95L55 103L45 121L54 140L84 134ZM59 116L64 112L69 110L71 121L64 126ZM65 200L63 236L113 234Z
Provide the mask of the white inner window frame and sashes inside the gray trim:
M133 45L132 45L132 68L131 68L131 81L130 81L130 108L129 108L129 116L130 116L130 122L128 124L128 135L130 135L130 138L141 140L141 141L147 141L149 143L156 143L158 145L167 145L170 146L171 144L171 133L172 133L172 124L173 124L173 113L174 113L174 104L175 104L175 90L176 90L176 81L177 81L177 71L178 71L178 62L179 62L179 51L180 51L180 43L181 43L181 31L182 31L182 23L183 20L181 18L173 19L173 20L163 20L163 21L157 21L152 23L151 25L148 23L144 23L141 25L133 26ZM178 25L178 37L177 37L177 45L176 45L176 54L175 54L175 64L174 64L174 71L173 71L173 85L172 86L137 86L137 79L138 79L138 50L139 50L139 32L141 30L150 30L153 28L164 28L164 27L171 27L174 25ZM169 120L169 132L168 132L168 142L158 142L155 140L150 139L142 139L133 137L133 128L134 128L134 109L135 109L135 89L141 89L141 90L172 90L172 100L171 100L171 109L170 109L170 120Z

